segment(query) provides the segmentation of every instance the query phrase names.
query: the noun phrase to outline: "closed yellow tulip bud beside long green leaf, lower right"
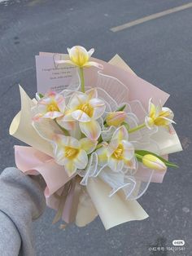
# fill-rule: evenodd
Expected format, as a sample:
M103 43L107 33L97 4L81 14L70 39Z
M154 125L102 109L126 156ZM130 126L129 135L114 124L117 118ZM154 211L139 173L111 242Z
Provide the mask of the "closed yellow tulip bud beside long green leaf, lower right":
M167 169L167 166L165 166L163 161L161 161L158 157L155 157L154 155L151 155L151 154L148 154L142 157L142 163L144 166L153 170Z

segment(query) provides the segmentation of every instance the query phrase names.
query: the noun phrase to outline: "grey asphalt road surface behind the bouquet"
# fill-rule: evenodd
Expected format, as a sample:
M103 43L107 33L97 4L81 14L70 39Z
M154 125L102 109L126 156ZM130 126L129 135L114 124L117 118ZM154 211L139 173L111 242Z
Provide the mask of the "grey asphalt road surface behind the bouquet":
M105 232L99 218L87 227L52 226L52 210L33 225L38 256L192 255L191 129L192 8L111 32L112 27L184 5L181 0L34 0L0 1L0 163L14 166L8 135L20 109L18 83L36 92L35 59L39 51L65 52L67 46L94 47L94 56L110 60L118 53L138 76L171 94L177 133L185 149L170 156L164 183L152 183L139 202L150 218ZM185 251L150 251L185 241Z

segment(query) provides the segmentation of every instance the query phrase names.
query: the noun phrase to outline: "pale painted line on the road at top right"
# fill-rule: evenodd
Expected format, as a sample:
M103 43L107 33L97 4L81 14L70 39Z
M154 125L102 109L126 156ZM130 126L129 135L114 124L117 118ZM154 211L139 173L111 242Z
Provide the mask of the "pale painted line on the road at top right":
M142 24L142 23L144 23L146 21L149 21L149 20L155 20L155 19L158 19L158 18L163 17L165 15L169 15L169 14L172 14L174 12L182 11L182 10L185 10L185 9L188 9L188 8L191 8L191 7L192 7L192 2L189 2L189 3L187 3L187 4L185 4L181 7L174 7L172 9L168 9L168 10L165 10L165 11L161 11L161 12L143 17L142 19L133 20L131 22L121 24L120 26L113 27L110 30L112 32L118 32L118 31L121 31L121 30L124 30L124 29L131 28L133 26L136 26L137 24Z

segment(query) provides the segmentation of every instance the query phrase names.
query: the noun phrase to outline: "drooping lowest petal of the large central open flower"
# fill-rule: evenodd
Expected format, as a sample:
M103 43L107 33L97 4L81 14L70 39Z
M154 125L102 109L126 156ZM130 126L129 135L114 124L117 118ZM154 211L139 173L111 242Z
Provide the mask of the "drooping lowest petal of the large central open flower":
M81 132L89 139L97 140L101 134L101 127L98 121L80 122Z

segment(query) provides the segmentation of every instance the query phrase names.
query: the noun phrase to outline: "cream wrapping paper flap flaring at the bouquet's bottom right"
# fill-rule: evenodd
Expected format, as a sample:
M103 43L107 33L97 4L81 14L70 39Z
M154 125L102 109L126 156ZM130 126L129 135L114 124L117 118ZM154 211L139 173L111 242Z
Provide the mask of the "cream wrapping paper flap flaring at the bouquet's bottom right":
M106 229L149 217L137 201L125 200L118 192L109 197L111 188L99 178L89 179L87 191Z

